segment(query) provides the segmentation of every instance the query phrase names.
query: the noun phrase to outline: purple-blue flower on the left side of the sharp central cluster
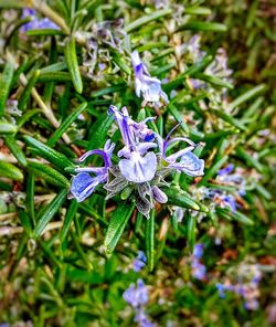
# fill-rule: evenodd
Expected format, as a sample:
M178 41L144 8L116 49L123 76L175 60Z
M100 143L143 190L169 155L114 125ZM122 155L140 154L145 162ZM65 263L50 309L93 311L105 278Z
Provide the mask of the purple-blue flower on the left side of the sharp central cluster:
M115 144L110 144L107 140L104 150L91 150L83 155L78 161L82 162L89 156L99 155L104 159L104 167L79 167L75 171L78 172L72 181L71 193L77 200L77 202L84 201L89 197L95 188L107 180L108 168L112 166L112 155L115 148ZM94 175L94 177L91 176Z

